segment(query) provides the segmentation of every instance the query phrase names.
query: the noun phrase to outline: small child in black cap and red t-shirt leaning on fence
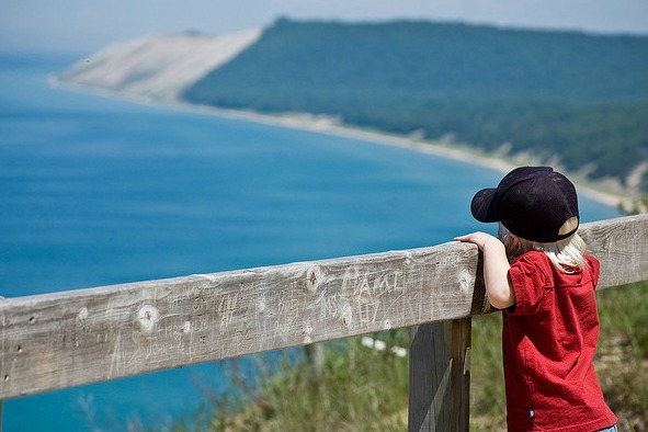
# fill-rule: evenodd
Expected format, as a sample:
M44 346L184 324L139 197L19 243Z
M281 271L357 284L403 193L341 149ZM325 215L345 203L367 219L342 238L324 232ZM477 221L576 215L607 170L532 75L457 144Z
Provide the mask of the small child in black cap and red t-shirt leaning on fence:
M500 223L500 239L455 240L482 251L488 299L503 309L509 430L616 431L592 364L600 264L576 232L573 184L549 167L516 168L470 207L477 220Z

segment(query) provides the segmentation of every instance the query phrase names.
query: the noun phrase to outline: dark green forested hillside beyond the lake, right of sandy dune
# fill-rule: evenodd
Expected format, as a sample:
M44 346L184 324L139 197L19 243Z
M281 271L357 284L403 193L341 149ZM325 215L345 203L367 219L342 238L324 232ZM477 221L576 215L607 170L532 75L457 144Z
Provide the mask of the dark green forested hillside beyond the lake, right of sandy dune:
M192 103L308 112L593 179L648 167L648 37L464 24L278 20L190 87ZM641 189L648 191L644 171Z

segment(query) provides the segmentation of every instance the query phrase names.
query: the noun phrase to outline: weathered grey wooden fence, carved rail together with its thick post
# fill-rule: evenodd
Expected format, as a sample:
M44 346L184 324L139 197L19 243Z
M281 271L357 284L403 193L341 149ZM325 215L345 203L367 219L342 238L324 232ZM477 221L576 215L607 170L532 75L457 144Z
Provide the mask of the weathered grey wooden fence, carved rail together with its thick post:
M648 215L584 224L600 288L648 280ZM0 400L412 327L410 430L468 430L470 317L489 311L466 243L0 300Z

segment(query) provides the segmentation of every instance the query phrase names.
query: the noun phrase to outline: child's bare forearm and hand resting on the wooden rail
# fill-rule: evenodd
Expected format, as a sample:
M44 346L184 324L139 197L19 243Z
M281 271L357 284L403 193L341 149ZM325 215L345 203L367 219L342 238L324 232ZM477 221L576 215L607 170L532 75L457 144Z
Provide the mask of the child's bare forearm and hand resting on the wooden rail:
M492 307L505 309L515 304L515 292L509 278L509 260L504 245L496 237L486 232L473 232L456 237L455 240L477 245L484 252L484 283L488 302Z

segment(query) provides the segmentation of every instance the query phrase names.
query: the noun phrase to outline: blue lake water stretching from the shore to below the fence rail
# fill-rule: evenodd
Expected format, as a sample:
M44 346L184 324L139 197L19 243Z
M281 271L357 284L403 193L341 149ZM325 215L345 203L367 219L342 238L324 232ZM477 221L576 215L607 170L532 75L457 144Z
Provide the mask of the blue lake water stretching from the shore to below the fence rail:
M211 273L450 241L501 173L402 148L81 94L72 58L0 54L0 295ZM583 220L617 211L581 196ZM200 383L197 385L196 383ZM162 424L218 363L3 403L5 431Z

